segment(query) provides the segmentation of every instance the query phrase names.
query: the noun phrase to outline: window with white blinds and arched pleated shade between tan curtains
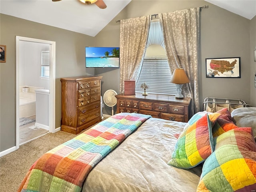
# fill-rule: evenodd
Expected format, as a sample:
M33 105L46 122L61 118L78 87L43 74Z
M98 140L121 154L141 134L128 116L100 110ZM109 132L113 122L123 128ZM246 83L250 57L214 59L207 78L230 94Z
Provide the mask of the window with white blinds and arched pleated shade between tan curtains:
M164 38L159 21L150 24L147 46L142 70L135 88L136 93L144 92L140 85L146 82L149 86L146 92L149 94L175 95L177 88L175 84L170 83L172 74L163 48Z

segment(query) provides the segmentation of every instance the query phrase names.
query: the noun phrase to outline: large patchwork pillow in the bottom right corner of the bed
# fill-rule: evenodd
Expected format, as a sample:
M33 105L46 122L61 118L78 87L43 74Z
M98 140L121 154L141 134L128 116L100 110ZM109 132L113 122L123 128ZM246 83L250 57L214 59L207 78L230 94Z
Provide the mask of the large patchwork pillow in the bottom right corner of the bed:
M197 192L256 190L256 143L252 128L235 128L216 138L202 168Z

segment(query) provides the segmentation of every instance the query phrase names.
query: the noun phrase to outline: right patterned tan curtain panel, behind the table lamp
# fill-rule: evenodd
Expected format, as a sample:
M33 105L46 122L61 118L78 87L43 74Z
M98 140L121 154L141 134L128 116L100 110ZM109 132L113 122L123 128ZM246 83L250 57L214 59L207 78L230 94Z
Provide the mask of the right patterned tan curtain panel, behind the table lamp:
M200 110L198 90L198 60L200 39L200 8L158 14L164 34L166 55L173 73L184 68L190 83L184 84L182 94L192 98L190 115Z

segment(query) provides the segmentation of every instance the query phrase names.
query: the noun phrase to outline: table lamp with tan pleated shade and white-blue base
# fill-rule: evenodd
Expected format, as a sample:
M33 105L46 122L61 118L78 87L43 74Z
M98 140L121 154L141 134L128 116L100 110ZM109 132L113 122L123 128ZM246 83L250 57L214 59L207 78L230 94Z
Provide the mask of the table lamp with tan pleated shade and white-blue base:
M177 94L175 95L175 97L177 99L183 99L184 96L181 94L181 91L182 91L181 88L182 88L183 84L190 82L184 69L182 69L182 68L175 69L172 74L172 78L171 78L170 82L174 83L176 85Z

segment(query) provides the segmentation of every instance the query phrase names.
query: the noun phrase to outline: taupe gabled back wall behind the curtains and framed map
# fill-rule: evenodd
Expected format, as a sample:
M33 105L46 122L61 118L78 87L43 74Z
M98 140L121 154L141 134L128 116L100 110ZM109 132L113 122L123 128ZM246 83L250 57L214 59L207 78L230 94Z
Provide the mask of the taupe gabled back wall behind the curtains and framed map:
M183 10L209 5L201 11L201 51L199 63L200 107L206 97L243 99L251 102L250 82L250 20L232 12L214 6L205 1L193 0L133 0L120 12L97 36L97 42L110 44L116 42L120 34L120 22L126 18L140 17L149 14ZM107 34L107 35L106 35ZM108 36L108 38L106 38ZM241 78L206 78L205 58L241 57ZM103 76L102 80L119 77L119 70L106 72L96 70ZM115 76L116 74L116 76ZM104 89L104 90L103 90ZM102 92L114 89L119 92L119 82L105 82ZM107 109L107 110L106 110ZM107 108L103 112L110 112Z

